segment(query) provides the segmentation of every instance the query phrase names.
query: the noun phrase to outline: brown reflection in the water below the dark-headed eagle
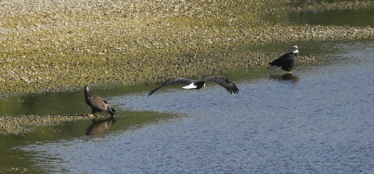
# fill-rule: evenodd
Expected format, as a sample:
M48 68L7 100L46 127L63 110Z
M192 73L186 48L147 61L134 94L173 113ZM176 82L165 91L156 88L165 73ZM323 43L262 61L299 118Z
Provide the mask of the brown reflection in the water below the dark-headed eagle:
M116 122L116 117L111 116L107 119L92 119L92 124L86 130L86 135L102 135L108 128Z

